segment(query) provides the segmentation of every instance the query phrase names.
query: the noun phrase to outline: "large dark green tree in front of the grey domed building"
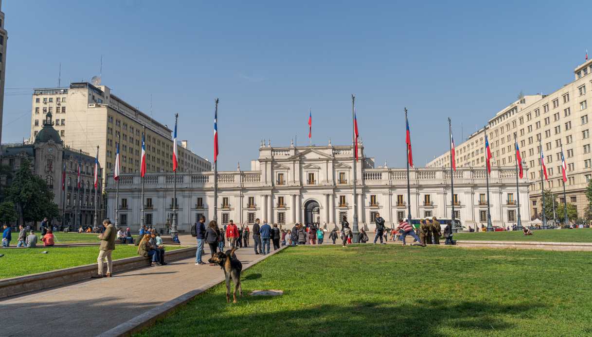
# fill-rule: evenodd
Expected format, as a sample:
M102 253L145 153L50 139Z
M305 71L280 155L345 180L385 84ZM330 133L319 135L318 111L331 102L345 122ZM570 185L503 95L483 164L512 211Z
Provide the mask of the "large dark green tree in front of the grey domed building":
M41 221L59 216L59 209L53 202L53 192L45 180L31 172L31 162L24 160L14 174L12 184L7 187L6 199L17 205L23 221Z

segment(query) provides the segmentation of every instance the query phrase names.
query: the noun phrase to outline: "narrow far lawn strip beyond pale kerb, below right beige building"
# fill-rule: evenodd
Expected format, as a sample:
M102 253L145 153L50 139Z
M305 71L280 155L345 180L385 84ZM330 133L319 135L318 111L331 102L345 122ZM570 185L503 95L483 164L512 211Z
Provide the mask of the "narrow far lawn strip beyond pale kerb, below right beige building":
M554 242L592 242L592 228L546 229L532 231L525 236L522 231L457 233L455 240L490 241L554 241Z

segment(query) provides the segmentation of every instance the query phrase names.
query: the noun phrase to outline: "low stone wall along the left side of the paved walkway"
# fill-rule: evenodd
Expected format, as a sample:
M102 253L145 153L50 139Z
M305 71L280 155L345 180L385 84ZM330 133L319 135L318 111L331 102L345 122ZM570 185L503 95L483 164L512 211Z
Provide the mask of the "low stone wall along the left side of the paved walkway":
M192 256L195 256L195 247L167 251L165 258L166 261L169 262L182 260ZM150 260L147 257L137 256L123 258L121 260L113 261L113 273L121 273L123 271L147 267L149 265ZM107 268L106 265L105 268ZM97 265L95 263L54 271L46 271L45 273L6 278L0 282L0 299L28 293L29 291L38 291L51 287L65 286L66 284L87 280L88 278L96 275L96 269Z

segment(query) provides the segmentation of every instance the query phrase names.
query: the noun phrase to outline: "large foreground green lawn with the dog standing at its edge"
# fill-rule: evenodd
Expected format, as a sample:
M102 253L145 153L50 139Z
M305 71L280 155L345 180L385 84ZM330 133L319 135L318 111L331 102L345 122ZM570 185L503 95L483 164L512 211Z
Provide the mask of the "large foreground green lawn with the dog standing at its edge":
M590 336L592 253L290 247L140 336ZM220 271L222 273L222 271Z

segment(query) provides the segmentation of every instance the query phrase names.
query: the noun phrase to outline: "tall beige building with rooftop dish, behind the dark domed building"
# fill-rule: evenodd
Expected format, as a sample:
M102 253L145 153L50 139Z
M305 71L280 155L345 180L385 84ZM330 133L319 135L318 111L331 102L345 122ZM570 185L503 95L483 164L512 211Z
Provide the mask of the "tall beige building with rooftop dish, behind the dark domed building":
M31 111L31 142L43 127L43 118L51 112L54 128L65 147L82 149L95 155L99 145L99 163L105 174L114 170L117 141L120 141L121 173L140 170L141 135L146 128L146 161L149 172L172 171L171 130L111 93L104 85L70 83L67 88L34 89ZM171 122L173 122L171 114ZM184 148L186 161L181 170L206 167L207 162ZM195 163L194 166L192 166ZM197 163L200 163L198 165ZM209 170L208 167L206 167Z

